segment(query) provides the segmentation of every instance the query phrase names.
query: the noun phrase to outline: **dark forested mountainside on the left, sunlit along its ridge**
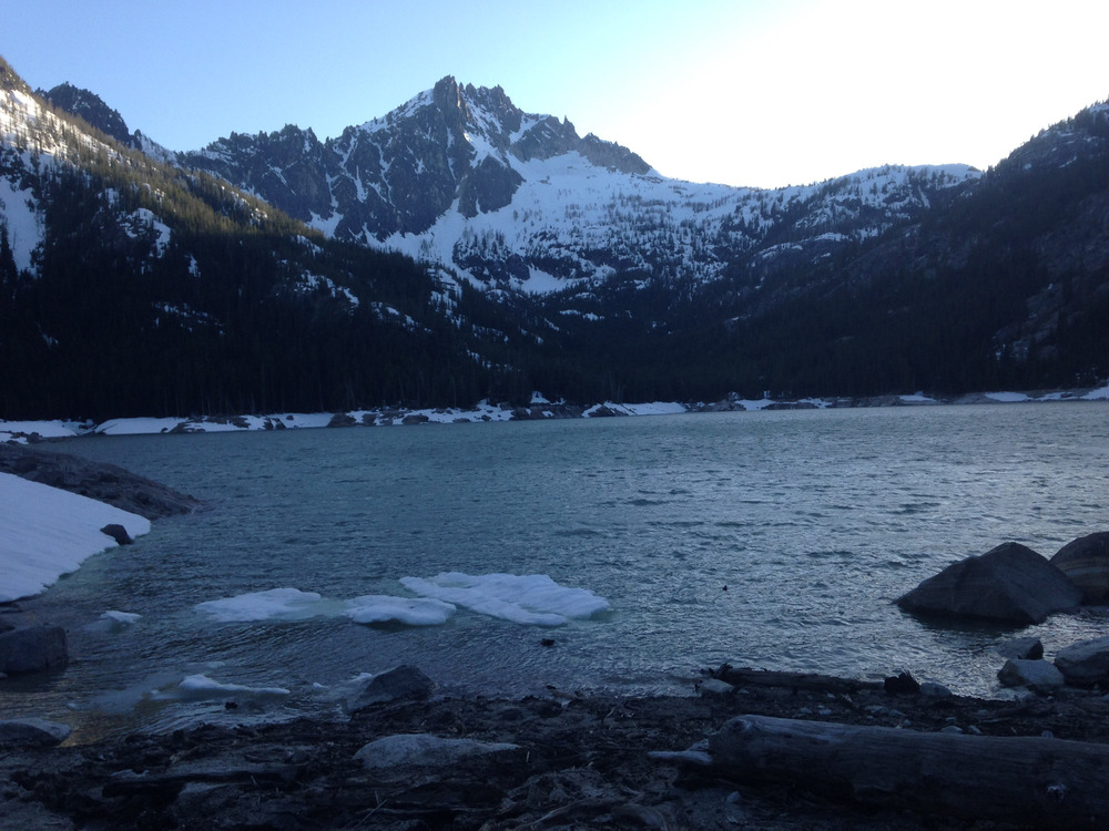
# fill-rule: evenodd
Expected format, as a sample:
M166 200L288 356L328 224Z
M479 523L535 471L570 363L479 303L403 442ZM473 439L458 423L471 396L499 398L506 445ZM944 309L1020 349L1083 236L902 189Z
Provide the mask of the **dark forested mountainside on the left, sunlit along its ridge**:
M2 62L0 137L0 418L472 401L512 375L481 296L121 144Z

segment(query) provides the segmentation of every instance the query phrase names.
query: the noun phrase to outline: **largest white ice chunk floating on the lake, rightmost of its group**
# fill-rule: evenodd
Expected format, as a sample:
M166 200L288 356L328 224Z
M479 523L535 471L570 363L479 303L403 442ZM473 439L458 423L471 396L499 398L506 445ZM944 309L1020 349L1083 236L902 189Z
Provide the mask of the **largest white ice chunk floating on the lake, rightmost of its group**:
M604 612L609 602L587 588L560 586L546 574L442 572L435 577L403 577L411 592L465 606L484 615L532 626L561 626L569 618Z

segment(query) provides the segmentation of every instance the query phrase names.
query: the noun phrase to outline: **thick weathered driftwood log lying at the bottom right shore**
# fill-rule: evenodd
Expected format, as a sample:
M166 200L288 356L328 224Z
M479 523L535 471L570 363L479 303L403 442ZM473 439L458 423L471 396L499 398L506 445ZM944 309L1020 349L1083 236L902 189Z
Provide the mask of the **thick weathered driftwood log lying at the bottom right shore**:
M769 716L709 739L739 781L832 799L1037 828L1109 828L1109 745L855 727Z

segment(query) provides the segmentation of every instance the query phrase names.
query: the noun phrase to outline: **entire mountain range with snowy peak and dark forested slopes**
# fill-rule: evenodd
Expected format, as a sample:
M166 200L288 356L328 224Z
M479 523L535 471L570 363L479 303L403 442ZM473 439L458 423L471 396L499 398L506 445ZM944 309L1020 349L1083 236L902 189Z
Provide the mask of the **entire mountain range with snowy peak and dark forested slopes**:
M0 417L1109 376L1105 104L987 172L756 189L452 78L335 138L192 152L63 88L0 65Z

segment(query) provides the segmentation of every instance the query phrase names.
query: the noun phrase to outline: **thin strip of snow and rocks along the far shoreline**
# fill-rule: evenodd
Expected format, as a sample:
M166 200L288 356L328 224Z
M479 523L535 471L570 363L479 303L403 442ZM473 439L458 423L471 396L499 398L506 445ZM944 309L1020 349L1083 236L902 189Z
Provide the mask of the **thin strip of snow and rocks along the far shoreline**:
M1039 403L1055 401L1109 401L1109 384L1097 389L1055 390L1050 392L981 392L943 399L923 392L904 396L878 396L866 399L742 399L730 396L713 403L680 403L654 401L647 403L604 402L592 407L573 407L552 402L540 393L528 407L492 404L482 401L472 409L435 408L407 410L384 408L348 412L271 413L266 416L191 417L191 418L123 418L102 423L62 420L0 420L0 442L27 443L40 439L64 439L78 435L151 435L160 433L214 433L246 430L287 430L321 427L394 427L398 424L451 424L488 421L521 421L557 418L599 418L606 416L671 416L684 412L761 411L783 409L833 409L844 407L899 407L936 404Z

